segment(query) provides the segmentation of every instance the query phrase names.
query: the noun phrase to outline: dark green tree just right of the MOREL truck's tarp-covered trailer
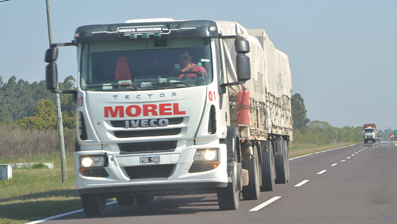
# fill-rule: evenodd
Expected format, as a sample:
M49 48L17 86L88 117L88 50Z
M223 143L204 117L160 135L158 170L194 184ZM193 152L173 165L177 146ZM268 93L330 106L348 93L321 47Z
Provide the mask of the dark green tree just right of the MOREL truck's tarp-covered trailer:
M303 131L306 125L310 122L310 119L306 117L306 107L304 100L299 93L295 93L291 97L291 108L292 108L292 120L293 128Z

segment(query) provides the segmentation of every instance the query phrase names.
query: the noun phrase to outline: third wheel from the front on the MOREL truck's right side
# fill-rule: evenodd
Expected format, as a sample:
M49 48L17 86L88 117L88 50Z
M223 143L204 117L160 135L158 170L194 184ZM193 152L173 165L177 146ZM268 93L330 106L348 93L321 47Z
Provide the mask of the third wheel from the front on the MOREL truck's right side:
M271 141L266 141L262 150L262 186L261 191L274 190L274 156ZM265 149L268 149L267 152Z

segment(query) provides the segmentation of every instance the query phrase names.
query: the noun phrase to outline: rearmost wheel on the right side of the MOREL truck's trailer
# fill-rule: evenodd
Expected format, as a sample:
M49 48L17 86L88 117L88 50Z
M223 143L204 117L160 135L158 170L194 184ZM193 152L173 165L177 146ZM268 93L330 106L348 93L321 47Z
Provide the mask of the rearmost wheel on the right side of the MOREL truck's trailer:
M288 149L285 150L284 140L277 141L274 144L276 151L279 153L274 156L275 168L276 168L276 184L285 184L289 178L289 165L288 163Z

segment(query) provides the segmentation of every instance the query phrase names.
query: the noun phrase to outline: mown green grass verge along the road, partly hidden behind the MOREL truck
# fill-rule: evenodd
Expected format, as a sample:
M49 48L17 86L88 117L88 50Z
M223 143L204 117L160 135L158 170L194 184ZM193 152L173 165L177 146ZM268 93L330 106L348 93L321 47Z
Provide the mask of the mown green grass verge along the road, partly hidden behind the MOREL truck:
M324 146L293 144L289 157L348 146L338 143ZM54 162L54 169L13 169L12 178L0 181L0 224L21 224L81 209L75 191L73 156L66 156L67 182L62 182L60 156L18 158L1 163Z

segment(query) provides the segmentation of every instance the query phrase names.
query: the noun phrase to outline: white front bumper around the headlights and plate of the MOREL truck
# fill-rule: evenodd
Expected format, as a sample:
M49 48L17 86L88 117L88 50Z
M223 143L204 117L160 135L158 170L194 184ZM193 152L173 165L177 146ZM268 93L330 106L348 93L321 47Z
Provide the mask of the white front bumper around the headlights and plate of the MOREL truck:
M203 172L189 172L197 149L218 148L219 166ZM79 172L79 157L82 155L102 155L108 157L108 165L103 169L105 177L86 176ZM160 156L159 163L139 163L141 155ZM78 194L126 193L129 194L194 194L216 192L226 187L227 153L225 144L208 144L178 147L174 151L159 153L121 154L119 151L87 150L74 152L76 189ZM168 174L158 175L157 172ZM133 170L133 171L131 171ZM138 173L137 178L134 174ZM147 173L147 174L146 174ZM147 178L145 178L147 176Z

